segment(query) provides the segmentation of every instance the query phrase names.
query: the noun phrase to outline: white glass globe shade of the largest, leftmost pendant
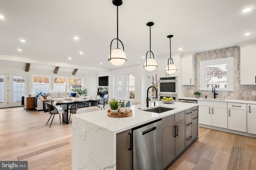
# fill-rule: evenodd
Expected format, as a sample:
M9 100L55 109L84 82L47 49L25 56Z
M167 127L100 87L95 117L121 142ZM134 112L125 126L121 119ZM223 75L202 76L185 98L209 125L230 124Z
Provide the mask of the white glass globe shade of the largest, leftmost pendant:
M109 54L110 63L112 63L114 66L121 66L126 62L126 54L122 49L113 49L111 51L111 59Z

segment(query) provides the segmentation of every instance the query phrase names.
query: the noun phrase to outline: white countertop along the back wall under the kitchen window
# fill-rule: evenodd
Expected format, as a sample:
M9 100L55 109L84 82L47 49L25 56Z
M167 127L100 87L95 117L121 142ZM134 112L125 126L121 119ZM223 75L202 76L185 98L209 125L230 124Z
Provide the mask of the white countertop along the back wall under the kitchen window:
M214 102L232 102L232 103L244 103L244 104L256 104L256 101L254 101L254 100L233 100L233 99L219 100L218 98L214 99L214 98L192 98L192 97L179 97L179 99L214 101Z

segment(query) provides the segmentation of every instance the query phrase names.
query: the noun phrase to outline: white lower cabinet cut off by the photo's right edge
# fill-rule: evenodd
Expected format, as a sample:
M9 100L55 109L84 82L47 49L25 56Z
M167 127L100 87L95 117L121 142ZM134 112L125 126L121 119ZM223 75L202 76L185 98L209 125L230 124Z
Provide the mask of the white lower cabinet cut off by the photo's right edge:
M248 133L256 134L256 104L248 104Z

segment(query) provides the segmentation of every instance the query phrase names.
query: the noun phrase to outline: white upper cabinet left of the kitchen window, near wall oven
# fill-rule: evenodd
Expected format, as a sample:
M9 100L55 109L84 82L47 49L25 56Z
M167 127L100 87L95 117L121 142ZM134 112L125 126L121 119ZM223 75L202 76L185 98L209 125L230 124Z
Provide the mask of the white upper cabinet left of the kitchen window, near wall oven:
M181 58L181 85L195 84L195 56L194 53L184 54Z

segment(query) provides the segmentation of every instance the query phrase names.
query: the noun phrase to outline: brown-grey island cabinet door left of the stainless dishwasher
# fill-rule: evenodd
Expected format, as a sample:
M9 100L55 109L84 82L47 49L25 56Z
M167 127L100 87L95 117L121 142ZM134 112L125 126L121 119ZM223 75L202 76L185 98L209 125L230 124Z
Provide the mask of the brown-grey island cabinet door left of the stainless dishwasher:
M116 169L132 170L131 136L132 130L116 134Z

